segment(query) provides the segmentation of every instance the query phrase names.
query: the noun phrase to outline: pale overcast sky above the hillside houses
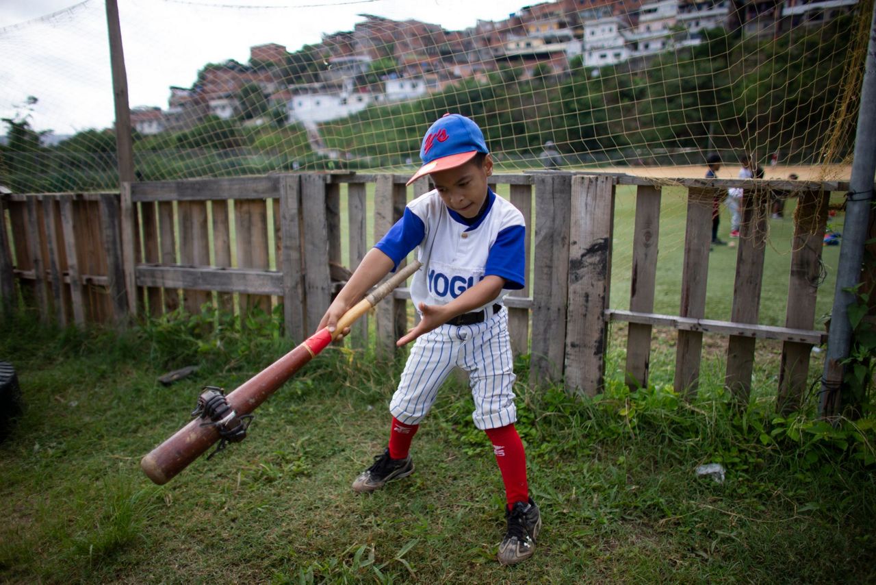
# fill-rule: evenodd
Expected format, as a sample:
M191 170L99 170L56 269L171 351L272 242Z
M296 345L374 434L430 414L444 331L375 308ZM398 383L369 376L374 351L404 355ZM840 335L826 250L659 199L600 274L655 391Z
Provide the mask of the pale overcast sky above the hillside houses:
M526 0L119 0L131 106L167 107L204 64L246 62L250 46L318 42L374 14L448 30L498 20ZM53 16L49 16L53 15ZM0 117L28 115L38 130L69 134L114 119L103 0L0 0ZM6 125L0 132L5 132Z

